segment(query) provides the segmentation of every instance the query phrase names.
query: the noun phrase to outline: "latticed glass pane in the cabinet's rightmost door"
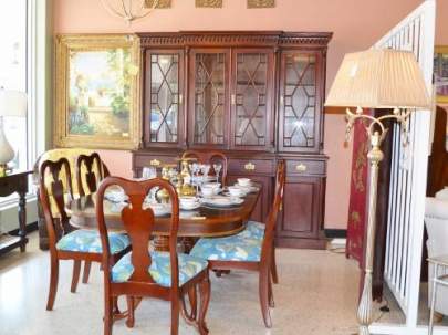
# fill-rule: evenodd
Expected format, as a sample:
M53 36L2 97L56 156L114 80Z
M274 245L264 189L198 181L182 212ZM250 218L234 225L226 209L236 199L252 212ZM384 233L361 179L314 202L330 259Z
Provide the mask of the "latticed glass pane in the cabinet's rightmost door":
M315 145L315 56L288 54L284 78L284 147Z

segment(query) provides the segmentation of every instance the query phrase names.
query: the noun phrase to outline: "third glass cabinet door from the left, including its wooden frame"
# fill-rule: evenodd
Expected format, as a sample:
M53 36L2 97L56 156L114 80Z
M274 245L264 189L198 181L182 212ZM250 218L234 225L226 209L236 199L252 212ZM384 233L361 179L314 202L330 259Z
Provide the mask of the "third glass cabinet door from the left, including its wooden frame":
M232 147L272 146L273 51L237 50L232 75Z

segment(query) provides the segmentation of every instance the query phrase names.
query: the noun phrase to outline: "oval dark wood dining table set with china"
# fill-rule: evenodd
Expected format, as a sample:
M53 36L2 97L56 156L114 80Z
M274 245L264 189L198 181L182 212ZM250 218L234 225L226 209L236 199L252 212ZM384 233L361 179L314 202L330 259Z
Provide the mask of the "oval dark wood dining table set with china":
M188 245L191 239L204 237L226 237L240 232L244 229L246 222L249 220L258 197L260 187L257 191L248 193L241 205L232 207L209 207L201 205L196 210L180 210L179 229L177 235L186 238ZM80 197L70 200L66 205L66 213L70 217L70 223L73 227L81 229L97 229L96 222L96 193ZM104 200L104 217L108 231L125 232L123 226L121 209L125 203L112 202ZM170 228L169 216L155 216L153 235L154 248L158 251L168 250L168 235Z

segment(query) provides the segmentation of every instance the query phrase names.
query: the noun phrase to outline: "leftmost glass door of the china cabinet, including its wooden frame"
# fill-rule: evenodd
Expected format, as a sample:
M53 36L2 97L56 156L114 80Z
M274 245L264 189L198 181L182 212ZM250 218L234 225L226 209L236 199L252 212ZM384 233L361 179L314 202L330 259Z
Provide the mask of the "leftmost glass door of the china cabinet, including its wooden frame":
M183 52L150 51L146 55L145 145L181 140Z

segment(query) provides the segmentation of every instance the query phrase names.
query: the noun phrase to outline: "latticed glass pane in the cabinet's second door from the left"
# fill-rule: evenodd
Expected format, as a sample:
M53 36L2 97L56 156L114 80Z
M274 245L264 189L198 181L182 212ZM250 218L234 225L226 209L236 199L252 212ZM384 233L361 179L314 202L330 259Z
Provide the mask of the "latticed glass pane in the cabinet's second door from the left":
M225 53L196 54L195 143L225 143Z

